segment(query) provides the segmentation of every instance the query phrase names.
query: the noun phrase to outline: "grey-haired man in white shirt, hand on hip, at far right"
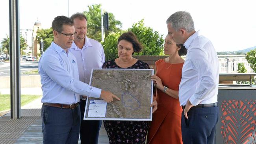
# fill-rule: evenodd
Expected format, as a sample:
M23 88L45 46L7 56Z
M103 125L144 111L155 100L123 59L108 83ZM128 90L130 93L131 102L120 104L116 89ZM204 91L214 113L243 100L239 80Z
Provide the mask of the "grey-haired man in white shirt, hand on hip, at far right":
M183 144L213 144L219 119L217 53L211 41L195 31L189 13L178 11L166 23L168 34L187 48L179 86Z

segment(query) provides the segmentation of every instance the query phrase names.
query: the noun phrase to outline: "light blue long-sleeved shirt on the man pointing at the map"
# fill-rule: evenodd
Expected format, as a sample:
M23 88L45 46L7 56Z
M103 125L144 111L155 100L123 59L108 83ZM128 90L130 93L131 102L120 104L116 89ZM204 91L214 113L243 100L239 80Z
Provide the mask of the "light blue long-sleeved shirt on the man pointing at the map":
M101 89L79 81L76 58L52 42L42 55L38 73L43 90L42 103L72 104L80 95L99 98Z

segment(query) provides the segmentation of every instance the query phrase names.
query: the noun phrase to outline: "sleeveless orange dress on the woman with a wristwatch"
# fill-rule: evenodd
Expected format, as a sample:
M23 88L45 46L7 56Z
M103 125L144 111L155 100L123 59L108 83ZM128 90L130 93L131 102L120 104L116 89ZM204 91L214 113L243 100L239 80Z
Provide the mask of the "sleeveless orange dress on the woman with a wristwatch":
M164 59L156 61L156 76L164 86L179 90L184 63L170 64ZM153 113L148 131L148 144L182 144L180 102L160 89L156 90L158 109Z

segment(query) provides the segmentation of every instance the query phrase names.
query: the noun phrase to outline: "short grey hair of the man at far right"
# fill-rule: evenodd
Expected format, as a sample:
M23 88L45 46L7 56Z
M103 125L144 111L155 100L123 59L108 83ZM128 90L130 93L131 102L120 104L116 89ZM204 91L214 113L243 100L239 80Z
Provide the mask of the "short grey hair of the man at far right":
M190 13L186 11L177 11L173 13L167 20L166 24L171 24L174 30L178 31L181 28L187 32L195 30L194 21Z

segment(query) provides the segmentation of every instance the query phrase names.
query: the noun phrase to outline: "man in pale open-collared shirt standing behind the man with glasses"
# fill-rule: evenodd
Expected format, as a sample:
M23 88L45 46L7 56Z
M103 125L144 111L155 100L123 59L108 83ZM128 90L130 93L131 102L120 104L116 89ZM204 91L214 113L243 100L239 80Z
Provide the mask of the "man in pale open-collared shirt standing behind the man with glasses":
M76 57L78 64L79 80L89 84L91 70L93 68L102 68L105 62L104 49L100 42L90 39L87 33L87 18L83 13L75 13L70 17L74 22L76 35L69 51ZM81 96L82 98L82 96ZM98 134L102 121L83 120L86 98L81 99L81 144L97 144Z

